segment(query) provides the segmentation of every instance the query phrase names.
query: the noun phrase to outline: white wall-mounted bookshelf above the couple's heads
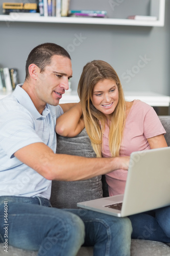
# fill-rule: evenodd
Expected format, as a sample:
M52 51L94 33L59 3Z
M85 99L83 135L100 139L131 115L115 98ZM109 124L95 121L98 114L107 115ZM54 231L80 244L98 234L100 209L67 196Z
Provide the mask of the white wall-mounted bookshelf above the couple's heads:
M32 23L58 23L58 24L93 24L93 25L124 25L124 26L148 26L163 27L165 13L165 0L151 0L150 15L157 16L155 21L134 20L121 18L84 18L84 17L43 17L23 16L16 18L9 15L0 15L0 22L32 22Z

